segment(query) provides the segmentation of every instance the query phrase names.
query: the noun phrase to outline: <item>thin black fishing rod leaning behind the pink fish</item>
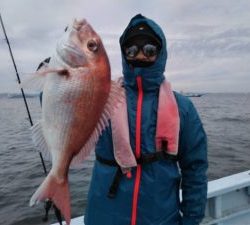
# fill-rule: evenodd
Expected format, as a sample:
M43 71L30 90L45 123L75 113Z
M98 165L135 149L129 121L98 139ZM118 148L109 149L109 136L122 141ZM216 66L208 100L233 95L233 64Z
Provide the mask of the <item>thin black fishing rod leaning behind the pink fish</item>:
M20 79L20 76L19 76L19 73L18 73L18 70L17 70L17 66L16 66L16 62L15 62L15 59L14 59L14 55L13 55L11 47L10 47L10 42L9 42L9 39L8 39L6 30L5 30L5 27L4 27L4 23L3 23L3 19L2 19L1 13L0 13L0 22L1 22L2 30L3 30L4 36L5 36L5 40L7 42L8 48L9 48L10 57L12 59L12 63L13 63L13 66L14 66L14 69L15 69L15 72L16 72L17 82L20 85L21 84L21 79ZM33 126L33 121L32 121L32 117L31 117L31 114L30 114L29 106L28 106L28 103L27 103L27 100L26 100L26 96L25 96L23 88L20 87L20 89L21 89L21 93L22 93L24 105L25 105L25 108L26 108L26 111L27 111L27 114L28 114L28 117L29 117L30 126L32 127ZM47 172L47 169L46 169L46 166L45 166L45 162L44 162L42 153L40 151L39 151L39 156L40 156L41 163L42 163L42 166L43 166L44 174L45 174L45 176L47 176L48 172ZM52 205L53 205L53 208L54 208L57 220L58 220L59 224L62 225L62 218L61 218L60 210L54 204L52 204L51 200L47 200L45 202L44 208L45 208L46 212L45 212L45 217L43 218L43 220L44 221L48 220L48 212L49 212L49 210L50 210L50 208L51 208Z

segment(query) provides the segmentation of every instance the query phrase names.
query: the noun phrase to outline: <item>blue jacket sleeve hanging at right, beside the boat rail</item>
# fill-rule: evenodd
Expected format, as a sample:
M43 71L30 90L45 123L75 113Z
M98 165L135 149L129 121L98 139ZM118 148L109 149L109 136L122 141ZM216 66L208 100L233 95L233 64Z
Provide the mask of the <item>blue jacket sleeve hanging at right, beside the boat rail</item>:
M182 225L198 225L204 217L207 199L207 138L191 101L182 116L179 149Z

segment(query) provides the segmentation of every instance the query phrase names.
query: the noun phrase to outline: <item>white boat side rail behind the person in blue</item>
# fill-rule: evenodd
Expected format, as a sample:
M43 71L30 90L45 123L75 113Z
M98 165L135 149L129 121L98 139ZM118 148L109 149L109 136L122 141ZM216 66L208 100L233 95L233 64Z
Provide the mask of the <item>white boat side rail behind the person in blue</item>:
M207 198L201 225L250 225L250 170L208 182ZM71 225L84 225L83 217Z

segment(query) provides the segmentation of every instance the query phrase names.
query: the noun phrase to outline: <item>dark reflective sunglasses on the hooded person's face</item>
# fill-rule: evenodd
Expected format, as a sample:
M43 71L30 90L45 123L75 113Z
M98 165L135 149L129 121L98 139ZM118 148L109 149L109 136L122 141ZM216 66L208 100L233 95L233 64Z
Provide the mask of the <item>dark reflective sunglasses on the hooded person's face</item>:
M150 58L150 57L158 55L159 48L157 45L153 45L153 44L145 44L141 46L137 44L133 44L131 46L124 48L125 56L128 58L135 58L140 51L142 51L144 56L146 56L147 58Z

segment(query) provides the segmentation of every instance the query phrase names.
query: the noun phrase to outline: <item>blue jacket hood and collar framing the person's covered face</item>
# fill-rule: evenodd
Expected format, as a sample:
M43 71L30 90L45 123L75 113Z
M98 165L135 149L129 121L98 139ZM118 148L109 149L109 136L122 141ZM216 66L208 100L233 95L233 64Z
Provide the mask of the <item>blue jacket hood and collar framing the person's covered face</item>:
M165 35L160 26L156 24L153 20L148 19L142 16L141 14L138 14L130 20L128 26L120 37L120 46L123 45L127 32L132 27L141 23L147 24L156 33L156 35L161 39L162 47L155 63L149 67L131 67L131 65L128 64L125 56L123 55L121 47L124 85L136 87L136 77L141 76L143 82L143 89L150 90L159 88L160 84L165 79L163 73L165 71L167 61L167 43Z

